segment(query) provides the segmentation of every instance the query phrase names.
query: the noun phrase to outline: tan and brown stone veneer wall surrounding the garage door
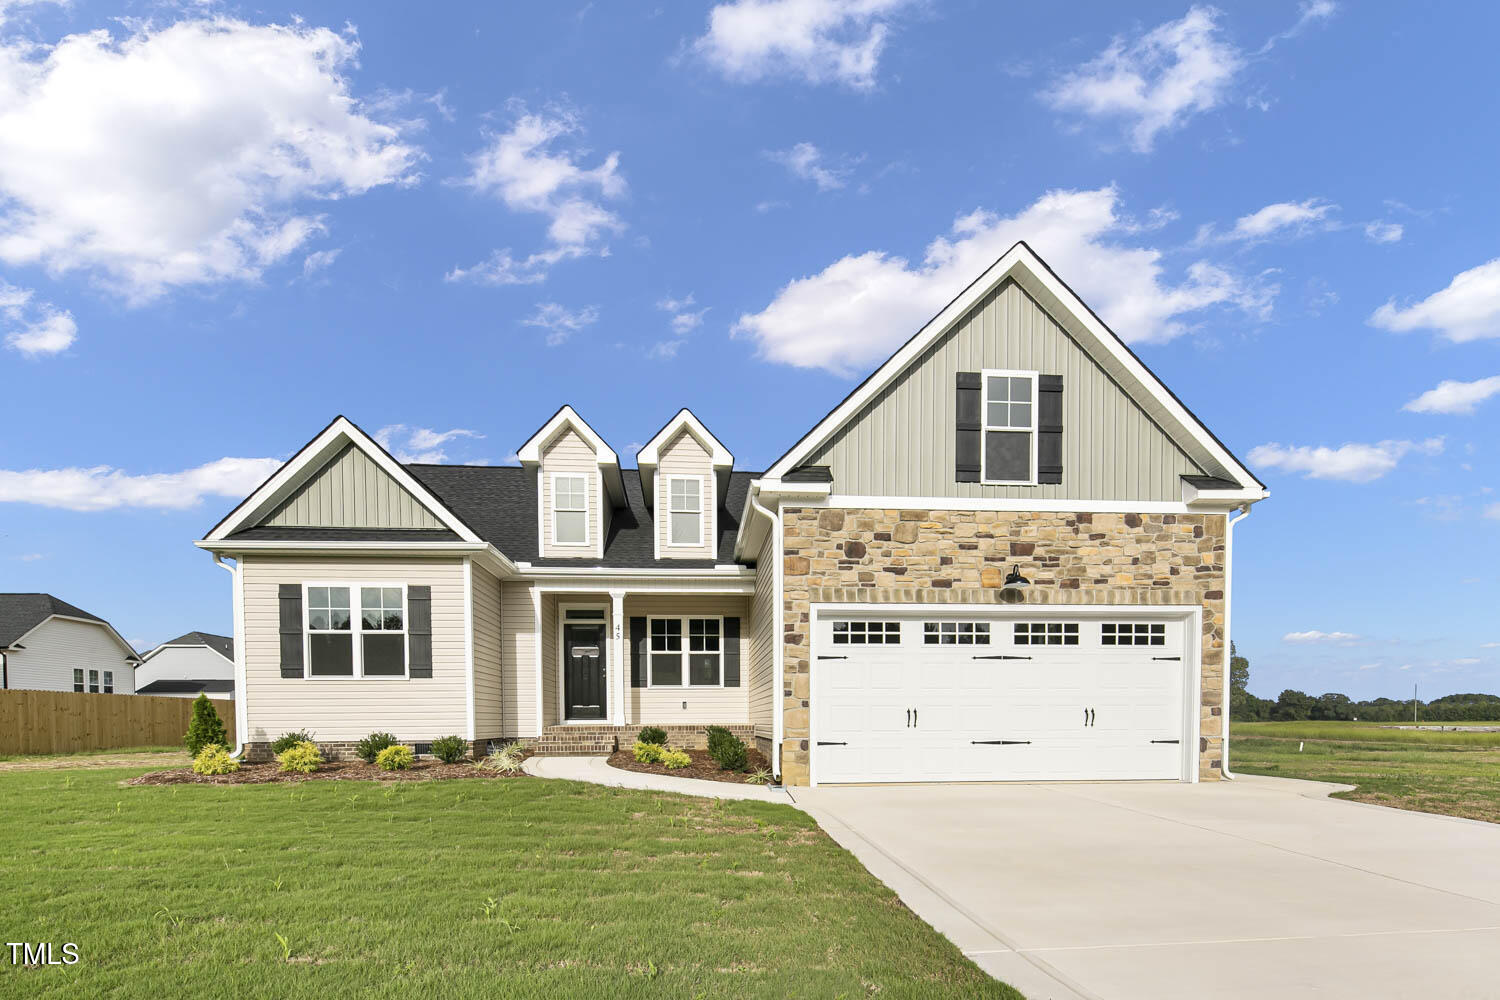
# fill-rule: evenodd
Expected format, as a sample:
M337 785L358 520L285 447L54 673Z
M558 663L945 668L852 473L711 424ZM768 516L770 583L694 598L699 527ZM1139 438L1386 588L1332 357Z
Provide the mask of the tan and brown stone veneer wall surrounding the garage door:
M1198 775L1216 780L1224 705L1224 514L786 508L782 778L807 784L810 604L1200 604ZM1024 607L1005 606L1005 607Z

